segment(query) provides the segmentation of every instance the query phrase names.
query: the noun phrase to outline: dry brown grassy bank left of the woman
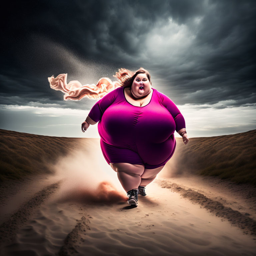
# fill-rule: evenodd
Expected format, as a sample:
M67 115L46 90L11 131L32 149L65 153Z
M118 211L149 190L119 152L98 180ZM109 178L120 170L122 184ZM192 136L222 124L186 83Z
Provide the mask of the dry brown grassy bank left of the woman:
M0 129L0 181L51 173L48 163L82 143L98 139L34 135Z

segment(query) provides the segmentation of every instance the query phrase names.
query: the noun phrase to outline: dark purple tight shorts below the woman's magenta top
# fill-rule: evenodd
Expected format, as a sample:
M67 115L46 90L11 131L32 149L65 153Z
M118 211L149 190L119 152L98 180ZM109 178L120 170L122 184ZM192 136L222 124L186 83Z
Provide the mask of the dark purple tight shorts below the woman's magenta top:
M135 152L128 148L118 148L116 146L109 145L106 142L104 142L102 139L100 139L100 147L101 147L103 156L108 164L110 163L112 164L114 163L143 164L146 169L155 169L165 165L168 162L168 160L172 157L175 151L176 141L175 141L175 146L171 155L164 162L157 165L150 165L143 162L138 152Z

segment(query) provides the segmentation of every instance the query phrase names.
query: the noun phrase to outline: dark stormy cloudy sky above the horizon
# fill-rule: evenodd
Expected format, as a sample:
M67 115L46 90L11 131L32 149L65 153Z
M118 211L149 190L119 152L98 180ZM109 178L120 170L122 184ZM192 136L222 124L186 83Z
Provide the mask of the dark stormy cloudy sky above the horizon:
M174 101L188 137L256 129L256 2L9 1L2 14L0 129L98 137L81 123L97 100L64 101L48 77L112 81L147 69ZM175 137L180 137L175 132Z

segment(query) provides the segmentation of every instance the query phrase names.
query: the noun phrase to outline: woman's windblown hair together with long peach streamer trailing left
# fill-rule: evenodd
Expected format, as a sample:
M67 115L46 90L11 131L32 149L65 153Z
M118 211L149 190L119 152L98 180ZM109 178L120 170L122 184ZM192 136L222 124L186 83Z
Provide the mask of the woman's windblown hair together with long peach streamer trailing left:
M52 89L64 92L64 100L98 99L118 87L131 87L134 78L140 73L145 73L151 84L150 74L144 68L134 72L125 68L118 69L118 72L113 75L118 81L112 82L109 78L102 77L96 85L82 85L77 80L70 81L67 84L67 74L60 74L56 78L54 76L48 77L48 81Z

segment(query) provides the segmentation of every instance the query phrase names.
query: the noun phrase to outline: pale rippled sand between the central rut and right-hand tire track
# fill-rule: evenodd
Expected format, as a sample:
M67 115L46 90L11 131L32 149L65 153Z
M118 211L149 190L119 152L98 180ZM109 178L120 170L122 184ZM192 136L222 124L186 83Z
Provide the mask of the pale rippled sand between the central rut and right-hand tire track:
M84 242L77 243L77 251L81 255L85 251L88 255L253 255L255 240L240 229L156 184L147 192L155 195L140 197L140 206L134 209L125 204L88 209L93 216L91 230L81 237Z

